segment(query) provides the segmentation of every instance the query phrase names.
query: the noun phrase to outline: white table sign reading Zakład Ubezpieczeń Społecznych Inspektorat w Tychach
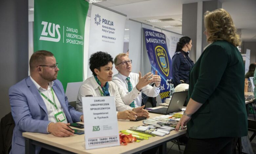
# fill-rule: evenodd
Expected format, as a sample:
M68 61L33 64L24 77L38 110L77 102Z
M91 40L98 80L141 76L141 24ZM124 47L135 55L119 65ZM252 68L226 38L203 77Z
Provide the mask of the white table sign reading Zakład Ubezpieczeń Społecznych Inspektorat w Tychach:
M85 148L120 145L114 97L82 97L82 104Z

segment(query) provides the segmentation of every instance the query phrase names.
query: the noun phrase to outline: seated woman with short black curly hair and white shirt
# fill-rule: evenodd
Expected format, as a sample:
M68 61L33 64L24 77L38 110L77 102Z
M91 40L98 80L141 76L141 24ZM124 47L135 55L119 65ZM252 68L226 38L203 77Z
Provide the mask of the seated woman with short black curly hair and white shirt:
M86 96L114 96L117 108L117 119L135 120L136 116L149 117L147 110L141 107L125 105L120 97L117 86L112 82L113 58L107 52L98 51L89 59L90 70L93 76L86 79L79 88L76 110L82 112L82 97Z

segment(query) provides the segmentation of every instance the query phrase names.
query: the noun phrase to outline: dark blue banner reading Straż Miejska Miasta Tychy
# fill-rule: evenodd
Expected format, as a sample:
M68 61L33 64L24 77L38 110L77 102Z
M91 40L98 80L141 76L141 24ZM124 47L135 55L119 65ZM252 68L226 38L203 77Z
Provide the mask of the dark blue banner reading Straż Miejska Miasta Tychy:
M165 98L169 98L168 81L172 79L171 58L166 45L165 35L161 32L143 28L145 36L145 45L148 58L151 64L151 71L161 76L160 98L162 103Z

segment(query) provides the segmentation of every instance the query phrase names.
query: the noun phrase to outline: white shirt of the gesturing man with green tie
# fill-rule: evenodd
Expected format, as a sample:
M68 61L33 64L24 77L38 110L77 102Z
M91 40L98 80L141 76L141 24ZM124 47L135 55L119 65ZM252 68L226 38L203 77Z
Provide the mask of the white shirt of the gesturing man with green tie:
M141 92L149 97L158 96L160 87L147 85L139 91L136 88L136 85L139 83L139 74L131 72L129 77L133 86L133 89L130 92L128 91L128 81L126 80L127 76L117 73L112 79L112 81L117 85L121 98L126 105L130 105L134 101L135 107L141 106Z

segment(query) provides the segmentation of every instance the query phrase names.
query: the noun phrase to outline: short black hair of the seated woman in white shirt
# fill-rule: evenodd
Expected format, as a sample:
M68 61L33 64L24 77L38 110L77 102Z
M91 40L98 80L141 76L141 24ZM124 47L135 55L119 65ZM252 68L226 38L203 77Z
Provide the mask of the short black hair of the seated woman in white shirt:
M93 53L89 59L89 66L93 75L96 75L94 72L95 68L100 70L100 67L107 65L109 62L114 63L113 57L107 52L98 51Z

